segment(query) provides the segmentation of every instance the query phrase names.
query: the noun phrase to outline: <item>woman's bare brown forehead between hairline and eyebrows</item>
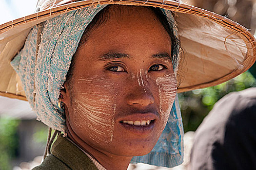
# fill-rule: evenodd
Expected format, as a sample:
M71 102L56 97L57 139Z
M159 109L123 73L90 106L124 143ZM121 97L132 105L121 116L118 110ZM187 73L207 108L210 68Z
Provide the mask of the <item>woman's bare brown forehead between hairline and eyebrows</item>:
M81 44L83 56L102 56L109 51L133 57L171 54L170 37L152 9L113 5L106 13L106 20L93 28Z

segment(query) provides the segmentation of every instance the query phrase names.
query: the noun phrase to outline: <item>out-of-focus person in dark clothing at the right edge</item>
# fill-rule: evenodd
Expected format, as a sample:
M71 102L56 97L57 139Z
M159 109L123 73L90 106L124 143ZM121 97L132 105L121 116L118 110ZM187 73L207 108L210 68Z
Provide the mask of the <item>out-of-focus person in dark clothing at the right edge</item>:
M194 136L191 170L256 170L256 87L220 99Z

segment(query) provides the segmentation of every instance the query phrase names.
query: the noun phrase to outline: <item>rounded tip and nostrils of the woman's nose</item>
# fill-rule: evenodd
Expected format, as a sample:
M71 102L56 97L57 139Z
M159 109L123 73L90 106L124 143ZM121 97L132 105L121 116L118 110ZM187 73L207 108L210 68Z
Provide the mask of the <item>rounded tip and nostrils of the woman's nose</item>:
M150 89L139 86L136 89L132 89L126 96L126 102L128 105L145 107L154 103L155 99Z

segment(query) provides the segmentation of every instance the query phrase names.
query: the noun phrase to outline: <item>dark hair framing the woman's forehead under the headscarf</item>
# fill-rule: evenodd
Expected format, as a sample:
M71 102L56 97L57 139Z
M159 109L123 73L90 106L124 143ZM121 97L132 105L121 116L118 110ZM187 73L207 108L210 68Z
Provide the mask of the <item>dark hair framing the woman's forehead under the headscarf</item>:
M74 60L77 56L77 53L80 50L80 48L82 47L82 45L85 44L91 31L93 29L96 29L98 26L105 23L109 19L111 7L112 8L114 7L115 10L120 11L121 10L120 6L121 5L117 5L117 4L107 5L101 11L99 11L98 14L96 14L96 16L93 18L93 20L90 22L90 24L84 30L83 35L80 39L77 51L75 52L75 54L72 57L71 65L70 65L70 68L67 73L66 81L68 84L70 83L70 80L72 79L74 63L75 63ZM143 6L143 7L148 8L155 13L158 20L161 22L163 28L165 29L167 34L170 36L171 42L172 42L172 53L171 53L172 63L173 63L173 66L177 66L179 49L180 49L180 41L179 41L178 37L175 36L175 31L174 31L177 28L177 25L173 21L168 20L168 18L166 17L166 15L163 13L163 11L160 8L155 8L155 7L151 7L151 6Z

